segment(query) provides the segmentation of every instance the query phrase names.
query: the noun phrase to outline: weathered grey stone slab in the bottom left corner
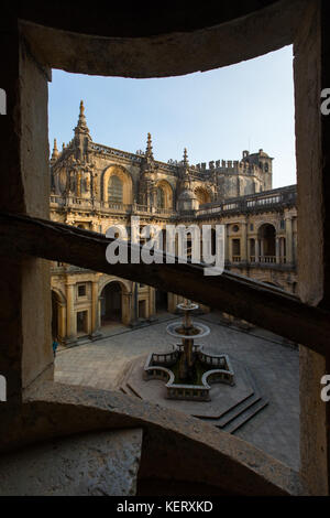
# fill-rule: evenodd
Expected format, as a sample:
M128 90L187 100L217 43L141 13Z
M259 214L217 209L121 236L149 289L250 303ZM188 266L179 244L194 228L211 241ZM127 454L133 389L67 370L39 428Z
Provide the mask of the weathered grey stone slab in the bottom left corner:
M1 496L133 496L142 430L54 440L0 461Z

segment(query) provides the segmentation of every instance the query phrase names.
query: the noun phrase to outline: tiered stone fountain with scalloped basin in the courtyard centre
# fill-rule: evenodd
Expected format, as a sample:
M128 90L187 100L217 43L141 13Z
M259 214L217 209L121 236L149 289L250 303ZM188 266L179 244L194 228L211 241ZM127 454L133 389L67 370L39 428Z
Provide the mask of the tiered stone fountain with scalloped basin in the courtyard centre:
M234 385L234 374L228 355L210 355L195 339L209 335L210 328L193 322L191 313L198 304L185 300L177 309L184 313L183 321L167 325L167 333L182 342L170 353L151 353L144 365L143 378L162 379L166 398L210 401L212 384Z

